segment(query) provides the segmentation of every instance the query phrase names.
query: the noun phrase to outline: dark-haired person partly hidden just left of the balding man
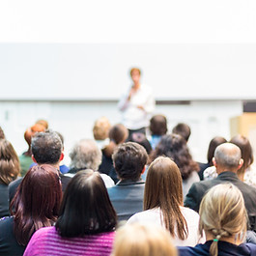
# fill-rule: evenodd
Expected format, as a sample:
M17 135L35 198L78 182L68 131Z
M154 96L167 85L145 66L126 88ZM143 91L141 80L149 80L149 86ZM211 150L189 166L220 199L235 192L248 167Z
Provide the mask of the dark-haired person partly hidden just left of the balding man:
M213 166L213 156L214 156L215 148L218 145L225 143L225 142L227 142L227 140L225 138L219 137L219 136L213 137L213 139L210 141L208 153L207 153L208 162L207 163L201 163L201 162L198 163L199 167L200 167L200 171L199 171L198 175L199 175L201 181L204 180L204 171L207 168Z

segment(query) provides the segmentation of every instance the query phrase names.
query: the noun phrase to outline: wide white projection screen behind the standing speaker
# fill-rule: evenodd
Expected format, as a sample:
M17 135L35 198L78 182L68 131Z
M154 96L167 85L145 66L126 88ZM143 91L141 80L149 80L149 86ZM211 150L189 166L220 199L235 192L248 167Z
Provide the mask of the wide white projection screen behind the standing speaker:
M118 100L131 67L156 100L256 99L256 43L0 43L0 100Z

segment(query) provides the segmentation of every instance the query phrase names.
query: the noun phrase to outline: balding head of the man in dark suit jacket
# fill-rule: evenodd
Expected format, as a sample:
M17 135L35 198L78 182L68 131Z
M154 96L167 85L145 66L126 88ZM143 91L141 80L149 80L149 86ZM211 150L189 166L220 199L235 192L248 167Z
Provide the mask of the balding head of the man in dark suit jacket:
M214 161L216 167L238 170L242 163L241 150L233 143L223 143L216 147L214 151Z

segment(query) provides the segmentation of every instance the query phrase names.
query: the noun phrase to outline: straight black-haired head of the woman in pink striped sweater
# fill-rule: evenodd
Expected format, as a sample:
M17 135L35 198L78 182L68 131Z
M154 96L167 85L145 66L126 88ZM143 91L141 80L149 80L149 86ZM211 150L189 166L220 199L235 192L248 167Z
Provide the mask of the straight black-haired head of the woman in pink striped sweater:
M100 173L83 170L71 179L63 197L56 228L62 237L113 231L117 216Z

